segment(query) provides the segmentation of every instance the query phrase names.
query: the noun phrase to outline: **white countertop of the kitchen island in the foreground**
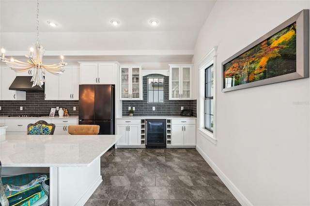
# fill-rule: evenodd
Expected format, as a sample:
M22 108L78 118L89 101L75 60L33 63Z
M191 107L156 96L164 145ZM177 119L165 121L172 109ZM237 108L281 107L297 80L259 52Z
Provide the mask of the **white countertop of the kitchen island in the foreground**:
M90 166L122 135L0 135L2 166Z

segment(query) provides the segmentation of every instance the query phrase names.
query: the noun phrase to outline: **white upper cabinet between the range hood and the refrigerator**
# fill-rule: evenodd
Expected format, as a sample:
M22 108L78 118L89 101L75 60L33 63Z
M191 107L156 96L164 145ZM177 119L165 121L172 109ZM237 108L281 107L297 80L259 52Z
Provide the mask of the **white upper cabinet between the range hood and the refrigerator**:
M45 100L78 100L79 67L65 66L60 75L45 74Z

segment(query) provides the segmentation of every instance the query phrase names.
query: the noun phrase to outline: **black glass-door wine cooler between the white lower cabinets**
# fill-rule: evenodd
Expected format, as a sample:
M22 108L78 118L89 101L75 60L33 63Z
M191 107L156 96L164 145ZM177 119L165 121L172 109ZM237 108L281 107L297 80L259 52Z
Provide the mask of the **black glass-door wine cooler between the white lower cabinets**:
M146 148L166 148L166 119L145 119Z

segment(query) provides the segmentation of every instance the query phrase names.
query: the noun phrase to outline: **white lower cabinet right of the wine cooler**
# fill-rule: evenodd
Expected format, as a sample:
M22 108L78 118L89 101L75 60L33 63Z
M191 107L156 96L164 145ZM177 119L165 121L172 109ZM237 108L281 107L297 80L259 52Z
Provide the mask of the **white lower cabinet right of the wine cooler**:
M171 146L196 146L196 119L172 119Z

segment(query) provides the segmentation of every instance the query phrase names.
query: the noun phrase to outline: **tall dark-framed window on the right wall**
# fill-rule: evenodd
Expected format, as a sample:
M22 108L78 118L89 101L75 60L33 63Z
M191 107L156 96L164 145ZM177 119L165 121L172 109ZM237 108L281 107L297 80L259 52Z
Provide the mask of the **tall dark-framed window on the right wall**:
M204 70L204 128L213 132L213 96L214 96L214 66L213 64Z

